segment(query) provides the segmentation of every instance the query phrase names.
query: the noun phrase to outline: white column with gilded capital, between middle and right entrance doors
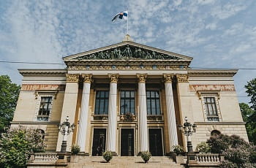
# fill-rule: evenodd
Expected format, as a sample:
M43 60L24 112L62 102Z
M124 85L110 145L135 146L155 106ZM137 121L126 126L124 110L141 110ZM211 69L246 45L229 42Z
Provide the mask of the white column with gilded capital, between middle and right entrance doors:
M147 102L146 102L146 77L138 77L138 115L139 115L139 146L141 151L148 150L148 123L147 123Z

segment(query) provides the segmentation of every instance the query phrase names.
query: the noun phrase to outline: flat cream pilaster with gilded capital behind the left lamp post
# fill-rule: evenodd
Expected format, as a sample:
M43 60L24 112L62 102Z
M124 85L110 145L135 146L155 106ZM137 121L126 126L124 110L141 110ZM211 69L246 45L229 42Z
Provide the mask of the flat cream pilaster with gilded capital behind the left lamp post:
M66 82L66 88L64 93L64 102L61 112L61 121L60 123L63 123L66 121L67 116L69 116L69 122L75 123L75 110L77 107L77 100L78 100L78 80L79 75L72 75L67 74L67 82ZM63 140L63 135L59 132L58 142L57 142L57 148L56 151L61 150L61 143ZM67 135L67 151L71 151L71 145L72 145L72 133Z

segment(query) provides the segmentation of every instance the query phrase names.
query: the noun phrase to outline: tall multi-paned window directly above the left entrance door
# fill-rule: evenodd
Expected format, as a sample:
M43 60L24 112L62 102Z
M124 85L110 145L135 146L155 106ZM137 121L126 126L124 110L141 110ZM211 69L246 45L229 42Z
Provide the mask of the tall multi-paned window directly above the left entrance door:
M108 115L109 91L97 91L95 101L95 115Z

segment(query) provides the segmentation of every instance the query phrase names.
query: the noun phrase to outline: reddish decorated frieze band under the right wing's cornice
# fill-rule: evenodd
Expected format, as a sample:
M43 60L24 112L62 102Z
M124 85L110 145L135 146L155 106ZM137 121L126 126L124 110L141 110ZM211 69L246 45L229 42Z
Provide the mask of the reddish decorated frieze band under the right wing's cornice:
M189 85L190 91L236 91L235 85Z

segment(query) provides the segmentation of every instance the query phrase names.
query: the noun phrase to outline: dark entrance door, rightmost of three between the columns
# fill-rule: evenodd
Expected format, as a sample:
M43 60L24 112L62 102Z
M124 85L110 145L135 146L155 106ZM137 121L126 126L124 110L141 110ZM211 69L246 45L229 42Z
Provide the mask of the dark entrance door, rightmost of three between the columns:
M148 129L148 136L152 156L162 156L162 129Z

